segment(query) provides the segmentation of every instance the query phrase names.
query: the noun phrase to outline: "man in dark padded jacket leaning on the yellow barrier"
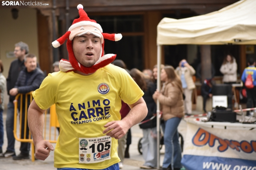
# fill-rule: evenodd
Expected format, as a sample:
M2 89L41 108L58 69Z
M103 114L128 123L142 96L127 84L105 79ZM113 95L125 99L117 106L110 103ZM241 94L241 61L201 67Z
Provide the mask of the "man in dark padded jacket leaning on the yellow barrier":
M37 67L37 57L33 54L27 54L24 59L25 69L20 71L18 76L18 80L14 86L9 91L11 96L16 96L18 93L26 94L30 91L34 91L38 89L44 79L44 73ZM29 99L30 97L28 97ZM28 107L30 101L28 100ZM24 122L25 122L25 95L23 95L23 102L20 103L18 101L18 105L22 104L22 130L21 130L21 138L24 138ZM28 109L27 107L27 109ZM18 106L18 109L20 107ZM29 137L28 133L28 124L27 124L27 131L26 131L26 139ZM20 154L18 156L13 156L14 160L19 159L29 159L29 150L30 150L30 143L21 142L20 145Z

